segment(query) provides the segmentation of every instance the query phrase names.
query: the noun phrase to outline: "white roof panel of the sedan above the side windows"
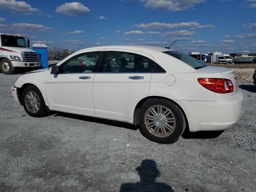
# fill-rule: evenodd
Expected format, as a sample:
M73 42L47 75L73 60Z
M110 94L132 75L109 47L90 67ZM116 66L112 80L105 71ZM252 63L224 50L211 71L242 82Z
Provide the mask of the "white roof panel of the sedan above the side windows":
M128 50L137 50L140 51L141 49L144 50L154 50L158 52L164 52L164 51L173 51L171 49L166 49L163 47L157 47L157 46L145 46L145 45L112 45L112 46L98 46L98 47L91 47L86 48L83 50L91 50L91 49L128 49ZM80 50L80 51L83 51Z

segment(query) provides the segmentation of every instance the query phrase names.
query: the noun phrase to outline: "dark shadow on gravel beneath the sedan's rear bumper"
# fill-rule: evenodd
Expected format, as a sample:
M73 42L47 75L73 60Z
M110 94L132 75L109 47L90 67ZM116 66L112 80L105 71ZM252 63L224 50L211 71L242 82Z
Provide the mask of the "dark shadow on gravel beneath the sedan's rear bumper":
M220 136L224 131L198 131L198 132L189 132L185 130L182 134L184 139L214 139Z

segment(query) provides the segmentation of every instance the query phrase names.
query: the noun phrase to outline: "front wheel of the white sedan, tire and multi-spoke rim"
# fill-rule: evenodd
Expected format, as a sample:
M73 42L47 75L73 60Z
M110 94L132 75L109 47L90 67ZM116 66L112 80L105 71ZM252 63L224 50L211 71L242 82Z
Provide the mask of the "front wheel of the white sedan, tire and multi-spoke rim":
M24 89L22 104L27 114L32 117L43 117L46 114L44 98L36 86L28 86Z

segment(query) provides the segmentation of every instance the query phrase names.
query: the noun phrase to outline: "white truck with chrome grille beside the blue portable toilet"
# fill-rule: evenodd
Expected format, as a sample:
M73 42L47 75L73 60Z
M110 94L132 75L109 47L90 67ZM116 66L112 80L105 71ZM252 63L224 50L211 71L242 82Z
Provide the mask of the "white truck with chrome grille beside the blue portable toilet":
M30 41L22 36L0 33L0 70L4 74L13 74L17 67L38 68L41 57L29 49Z

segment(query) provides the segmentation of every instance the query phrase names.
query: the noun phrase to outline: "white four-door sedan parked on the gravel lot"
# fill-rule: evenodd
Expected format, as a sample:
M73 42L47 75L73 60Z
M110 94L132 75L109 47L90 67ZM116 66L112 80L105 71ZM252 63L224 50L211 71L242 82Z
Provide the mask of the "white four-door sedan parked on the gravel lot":
M244 98L234 69L150 46L80 50L52 68L22 74L12 94L30 116L58 111L140 125L159 143L175 142L185 128L230 128Z

